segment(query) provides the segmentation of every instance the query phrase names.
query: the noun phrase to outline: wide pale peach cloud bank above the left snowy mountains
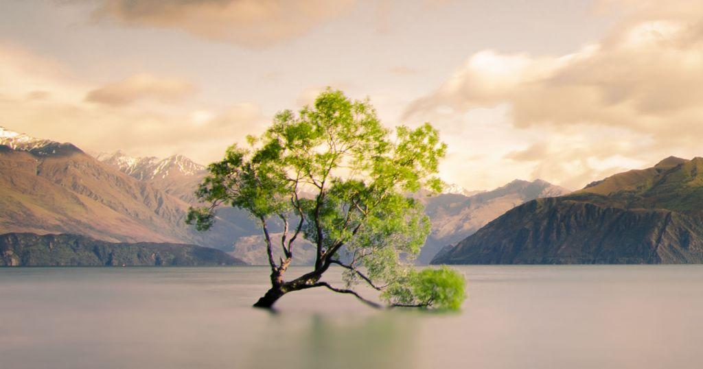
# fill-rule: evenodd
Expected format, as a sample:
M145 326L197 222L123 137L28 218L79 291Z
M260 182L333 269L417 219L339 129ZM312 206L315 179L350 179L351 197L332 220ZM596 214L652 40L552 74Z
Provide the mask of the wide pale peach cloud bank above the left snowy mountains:
M0 60L0 125L71 142L83 150L183 154L207 163L219 159L228 145L245 143L247 134L259 134L268 120L254 103L153 101L179 98L188 91L188 84L179 78L138 75L96 88L71 77L50 59L20 48L0 44ZM137 98L140 103L129 109L115 108ZM95 99L100 103L93 103Z

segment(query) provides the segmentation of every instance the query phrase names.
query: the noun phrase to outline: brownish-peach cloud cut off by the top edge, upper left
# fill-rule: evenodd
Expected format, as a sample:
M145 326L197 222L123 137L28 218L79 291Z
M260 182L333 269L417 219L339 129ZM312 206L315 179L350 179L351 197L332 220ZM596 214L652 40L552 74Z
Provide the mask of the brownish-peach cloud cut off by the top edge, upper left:
M103 0L100 19L183 30L250 48L307 34L352 9L355 0Z

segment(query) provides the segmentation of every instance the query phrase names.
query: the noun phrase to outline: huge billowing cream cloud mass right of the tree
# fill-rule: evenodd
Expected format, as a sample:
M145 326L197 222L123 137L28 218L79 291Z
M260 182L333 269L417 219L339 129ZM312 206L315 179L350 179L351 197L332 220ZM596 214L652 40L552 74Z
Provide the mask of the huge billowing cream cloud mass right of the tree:
M480 51L404 117L445 127L447 116L505 106L510 127L486 139L521 173L567 186L669 155L703 155L693 139L703 134L703 4L601 6L613 4L626 16L600 41L559 56ZM508 132L522 136L521 149L505 145Z

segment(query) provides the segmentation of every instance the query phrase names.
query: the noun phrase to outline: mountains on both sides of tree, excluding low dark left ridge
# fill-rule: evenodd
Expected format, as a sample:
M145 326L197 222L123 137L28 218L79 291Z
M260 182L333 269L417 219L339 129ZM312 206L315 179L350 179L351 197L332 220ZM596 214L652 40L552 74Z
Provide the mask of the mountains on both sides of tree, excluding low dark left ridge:
M91 156L71 143L0 127L0 174L0 233L191 244L266 262L257 226L239 209L221 209L206 233L184 224L207 171L183 155ZM449 186L439 195L413 195L432 221L418 264L703 262L700 157L668 157L574 193L516 180L491 191ZM298 264L309 264L314 250L300 245L298 255Z

